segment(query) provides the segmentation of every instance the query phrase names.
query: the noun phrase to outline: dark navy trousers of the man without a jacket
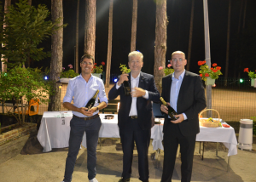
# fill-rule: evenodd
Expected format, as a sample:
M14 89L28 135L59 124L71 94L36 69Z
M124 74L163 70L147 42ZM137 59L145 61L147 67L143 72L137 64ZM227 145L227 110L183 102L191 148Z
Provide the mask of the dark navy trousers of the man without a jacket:
M72 180L73 168L79 154L80 145L83 139L84 131L86 134L87 145L87 168L88 179L94 179L96 176L96 146L99 138L99 130L102 126L100 117L86 120L73 117L70 121L69 148L66 161L64 181Z

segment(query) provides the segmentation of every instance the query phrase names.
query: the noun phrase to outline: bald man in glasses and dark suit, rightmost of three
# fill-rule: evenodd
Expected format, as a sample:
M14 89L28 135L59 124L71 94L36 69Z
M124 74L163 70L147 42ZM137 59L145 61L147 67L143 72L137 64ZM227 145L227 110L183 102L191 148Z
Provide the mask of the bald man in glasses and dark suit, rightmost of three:
M205 91L201 77L195 73L185 71L185 54L181 51L172 53L172 67L174 73L162 79L162 98L177 111L177 120L168 117L168 109L161 105L165 112L164 123L164 167L161 182L172 181L175 166L177 145L181 152L182 182L191 180L195 138L199 133L198 114L207 106Z

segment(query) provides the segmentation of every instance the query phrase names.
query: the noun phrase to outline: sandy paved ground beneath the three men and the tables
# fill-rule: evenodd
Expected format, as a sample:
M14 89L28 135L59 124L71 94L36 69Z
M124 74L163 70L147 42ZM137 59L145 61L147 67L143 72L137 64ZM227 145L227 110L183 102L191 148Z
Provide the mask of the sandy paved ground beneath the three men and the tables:
M119 149L119 139L103 139L102 149L97 150L97 175L99 182L117 182L122 172L122 151ZM255 162L256 151L240 151L230 157L230 171L227 172L227 151L224 145L219 145L218 156L215 155L216 143L206 143L204 160L198 153L199 142L196 142L192 181L210 182L241 182L256 181ZM256 145L253 144L253 149ZM162 173L163 151L160 152L160 162L154 160L155 151L150 145L149 175L150 182L160 182ZM61 182L63 179L67 148L54 149L43 153L42 146L36 136L26 142L18 156L0 164L0 182ZM74 168L73 182L86 182L87 151L83 147ZM174 182L180 181L180 157L177 157L173 175ZM131 182L138 180L137 151L134 151Z

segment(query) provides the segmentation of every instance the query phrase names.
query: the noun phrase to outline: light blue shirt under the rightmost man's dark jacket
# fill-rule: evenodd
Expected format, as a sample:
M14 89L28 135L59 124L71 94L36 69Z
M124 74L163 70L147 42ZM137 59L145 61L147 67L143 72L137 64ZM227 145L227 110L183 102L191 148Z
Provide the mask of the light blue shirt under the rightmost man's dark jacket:
M170 93L170 105L172 108L177 112L177 97L179 94L179 90L181 84L183 82L183 77L185 75L185 70L183 73L177 78L174 77L174 73L172 74L172 86L171 86L171 93ZM183 113L184 120L188 119L188 117Z

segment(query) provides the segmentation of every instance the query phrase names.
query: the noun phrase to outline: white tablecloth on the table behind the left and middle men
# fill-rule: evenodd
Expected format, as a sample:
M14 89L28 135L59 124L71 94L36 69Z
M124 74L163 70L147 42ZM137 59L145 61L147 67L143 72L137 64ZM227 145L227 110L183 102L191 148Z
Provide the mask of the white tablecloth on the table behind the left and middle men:
M102 127L99 132L100 138L119 138L119 127L117 125L118 117L114 114L112 120L104 119L106 114L100 114L102 119ZM38 141L44 147L44 152L51 151L52 148L68 147L68 139L70 134L70 120L72 119L72 111L46 111L41 120L38 131ZM158 125L151 129L151 139L154 139L154 150L160 148L160 135L162 132ZM86 147L85 134L82 145Z

